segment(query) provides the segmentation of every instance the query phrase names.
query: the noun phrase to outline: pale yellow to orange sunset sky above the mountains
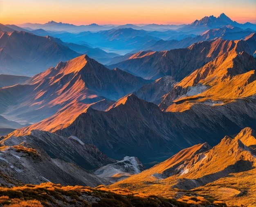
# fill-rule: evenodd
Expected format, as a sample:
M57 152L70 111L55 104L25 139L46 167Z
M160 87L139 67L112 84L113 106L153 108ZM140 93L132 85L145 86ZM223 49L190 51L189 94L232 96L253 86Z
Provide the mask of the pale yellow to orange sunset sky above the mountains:
M256 23L256 0L0 0L1 24L190 24L221 13Z

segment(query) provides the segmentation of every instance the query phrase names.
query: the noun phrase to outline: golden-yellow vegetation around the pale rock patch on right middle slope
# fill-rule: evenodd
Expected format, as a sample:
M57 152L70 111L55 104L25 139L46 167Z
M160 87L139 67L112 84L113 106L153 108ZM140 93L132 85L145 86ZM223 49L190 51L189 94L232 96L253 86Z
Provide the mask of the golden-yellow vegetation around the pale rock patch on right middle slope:
M182 112L189 110L194 104L205 104L207 101L216 102L213 104L216 106L256 94L255 70L242 74L234 72L236 75L231 75L230 71L237 70L234 59L240 56L241 54L233 49L185 77L176 86L189 88L201 84L209 88L198 95L177 98L173 102L182 103L172 104L166 111Z

